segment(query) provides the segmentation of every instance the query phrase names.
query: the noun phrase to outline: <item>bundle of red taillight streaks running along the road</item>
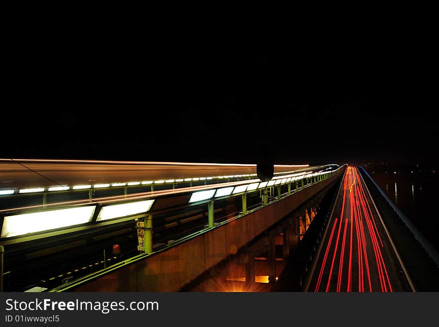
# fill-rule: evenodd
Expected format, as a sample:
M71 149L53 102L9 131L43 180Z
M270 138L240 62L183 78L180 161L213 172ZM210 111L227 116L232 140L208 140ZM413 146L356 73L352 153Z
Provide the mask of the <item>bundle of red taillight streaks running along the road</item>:
M346 170L343 201L338 210L340 215L335 217L332 227L329 226L331 234L314 292L365 292L365 279L369 292L393 292L381 252L384 245L355 167L349 166ZM336 229L337 237L333 242ZM331 265L327 265L330 255ZM336 260L338 269L334 269ZM324 289L322 283L325 283Z

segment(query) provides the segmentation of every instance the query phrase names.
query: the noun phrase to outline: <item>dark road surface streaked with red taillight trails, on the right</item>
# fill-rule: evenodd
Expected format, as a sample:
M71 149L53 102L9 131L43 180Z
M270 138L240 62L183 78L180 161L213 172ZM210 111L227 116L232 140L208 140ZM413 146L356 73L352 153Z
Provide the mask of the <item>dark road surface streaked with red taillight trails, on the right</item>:
M355 167L347 168L311 273L308 291L411 291Z

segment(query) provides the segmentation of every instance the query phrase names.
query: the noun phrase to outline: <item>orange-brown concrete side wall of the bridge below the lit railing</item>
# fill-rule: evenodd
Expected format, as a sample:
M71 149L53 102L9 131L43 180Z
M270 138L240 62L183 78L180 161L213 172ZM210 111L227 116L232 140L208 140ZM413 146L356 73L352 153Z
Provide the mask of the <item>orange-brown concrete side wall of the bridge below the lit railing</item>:
M79 286L74 292L176 292L287 216L344 172Z

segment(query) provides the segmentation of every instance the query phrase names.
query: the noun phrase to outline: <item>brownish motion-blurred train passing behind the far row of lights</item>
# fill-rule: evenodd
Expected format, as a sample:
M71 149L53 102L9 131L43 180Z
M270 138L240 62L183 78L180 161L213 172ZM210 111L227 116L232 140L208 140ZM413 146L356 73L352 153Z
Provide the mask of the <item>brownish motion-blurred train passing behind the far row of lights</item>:
M276 172L319 166L275 165ZM0 189L256 174L251 164L0 159Z

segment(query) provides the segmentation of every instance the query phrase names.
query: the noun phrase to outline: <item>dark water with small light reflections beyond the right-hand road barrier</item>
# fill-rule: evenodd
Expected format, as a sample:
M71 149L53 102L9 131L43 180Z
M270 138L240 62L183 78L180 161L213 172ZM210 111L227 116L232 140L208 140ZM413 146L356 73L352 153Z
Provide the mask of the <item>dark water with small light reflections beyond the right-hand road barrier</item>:
M439 250L438 175L432 165L363 165L402 212Z

